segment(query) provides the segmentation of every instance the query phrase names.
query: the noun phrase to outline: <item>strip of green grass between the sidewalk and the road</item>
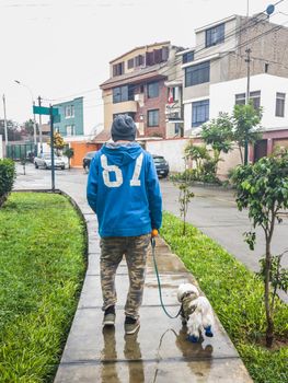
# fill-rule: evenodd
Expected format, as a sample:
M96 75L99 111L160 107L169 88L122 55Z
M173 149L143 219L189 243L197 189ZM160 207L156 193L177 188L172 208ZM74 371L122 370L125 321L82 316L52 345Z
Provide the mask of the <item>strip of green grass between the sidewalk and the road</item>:
M161 235L184 262L206 293L220 322L234 343L252 379L258 383L288 382L288 347L267 350L260 339L265 334L263 282L199 230L164 213ZM288 339L288 307L277 299L277 338Z

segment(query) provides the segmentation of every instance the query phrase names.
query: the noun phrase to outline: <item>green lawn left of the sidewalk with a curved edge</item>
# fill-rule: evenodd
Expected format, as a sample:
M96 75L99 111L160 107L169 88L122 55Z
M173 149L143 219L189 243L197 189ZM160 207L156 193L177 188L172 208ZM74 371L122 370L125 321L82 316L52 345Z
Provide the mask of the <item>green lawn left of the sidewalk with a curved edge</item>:
M15 193L0 209L1 383L53 381L84 252L83 222L64 196Z

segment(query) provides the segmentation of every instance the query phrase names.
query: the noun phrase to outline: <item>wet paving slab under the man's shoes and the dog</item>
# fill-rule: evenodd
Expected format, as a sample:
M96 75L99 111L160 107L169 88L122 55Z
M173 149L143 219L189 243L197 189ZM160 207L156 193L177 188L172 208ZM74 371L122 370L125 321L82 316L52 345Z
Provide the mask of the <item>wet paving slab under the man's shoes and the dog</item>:
M172 310L171 310L172 311ZM215 336L204 336L199 344L187 338L187 328L180 320L170 320L162 307L142 306L141 326L136 336L124 333L124 312L116 313L115 328L101 328L101 309L78 310L61 363L100 361L153 361L185 359L234 359L239 355L217 321ZM129 351L128 351L129 350Z

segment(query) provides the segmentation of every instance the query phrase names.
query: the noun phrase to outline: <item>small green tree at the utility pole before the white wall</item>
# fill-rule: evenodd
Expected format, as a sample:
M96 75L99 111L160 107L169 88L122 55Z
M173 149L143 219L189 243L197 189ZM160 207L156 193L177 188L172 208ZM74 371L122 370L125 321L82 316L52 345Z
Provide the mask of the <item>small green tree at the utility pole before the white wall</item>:
M237 142L241 162L244 164L243 148L261 139L262 108L255 109L252 101L247 105L235 105L232 115L233 140Z

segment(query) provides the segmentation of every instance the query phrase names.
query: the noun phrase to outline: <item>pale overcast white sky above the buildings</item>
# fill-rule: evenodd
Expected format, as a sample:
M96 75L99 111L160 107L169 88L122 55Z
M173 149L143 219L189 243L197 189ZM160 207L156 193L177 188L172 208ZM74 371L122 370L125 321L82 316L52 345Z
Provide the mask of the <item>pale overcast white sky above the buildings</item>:
M195 28L232 14L245 15L247 3L252 15L276 2L0 0L0 118L2 94L7 117L19 123L32 117L32 95L44 97L47 106L83 95L92 128L103 121L99 85L108 78L112 59L155 42L193 47ZM270 21L288 26L288 0L276 5Z

